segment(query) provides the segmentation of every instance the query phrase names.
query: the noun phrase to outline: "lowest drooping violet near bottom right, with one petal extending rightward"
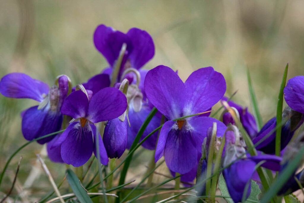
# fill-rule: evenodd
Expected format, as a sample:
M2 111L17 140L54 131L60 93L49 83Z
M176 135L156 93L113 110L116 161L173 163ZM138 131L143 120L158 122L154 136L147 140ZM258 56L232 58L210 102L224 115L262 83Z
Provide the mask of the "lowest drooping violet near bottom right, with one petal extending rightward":
M223 176L234 202L242 201L244 192L246 192L246 199L249 197L251 178L257 164L263 162L261 164L262 167L278 171L281 168L280 162L282 161L280 157L262 155L261 152L258 152L257 156L246 154L240 138L238 130L227 129L225 133L226 145L223 167L228 167L223 170ZM247 191L244 191L247 185Z

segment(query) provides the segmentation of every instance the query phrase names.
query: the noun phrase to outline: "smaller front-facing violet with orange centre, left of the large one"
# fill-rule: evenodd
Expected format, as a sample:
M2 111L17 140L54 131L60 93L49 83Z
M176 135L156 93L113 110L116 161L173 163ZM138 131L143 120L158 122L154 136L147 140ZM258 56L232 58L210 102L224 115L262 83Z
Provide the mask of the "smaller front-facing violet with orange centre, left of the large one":
M82 166L96 156L95 139L99 139L101 163L108 163L100 134L96 135L94 123L120 116L127 107L126 96L116 88L106 87L95 93L92 98L82 91L72 92L64 101L61 112L75 119L60 135L53 147L61 144L62 160L75 167Z

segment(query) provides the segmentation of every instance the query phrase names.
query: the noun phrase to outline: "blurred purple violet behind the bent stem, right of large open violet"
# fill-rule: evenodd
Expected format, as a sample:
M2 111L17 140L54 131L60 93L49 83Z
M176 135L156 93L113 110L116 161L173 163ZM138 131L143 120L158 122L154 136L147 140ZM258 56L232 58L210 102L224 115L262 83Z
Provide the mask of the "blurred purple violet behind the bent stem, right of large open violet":
M244 127L244 129L246 130L246 132L248 133L248 135L251 137L251 139L253 139L254 137L256 137L257 135L257 123L254 119L254 116L248 111L248 108L244 108L242 106L240 106L239 104L233 102L233 101L228 101L227 97L223 97L222 100L227 101L227 103L229 104L230 107L234 107L235 109L237 109L239 115L240 115L240 121ZM223 122L228 122L228 119L231 119L231 115L229 115L230 113L227 112L225 116L225 119L227 120L223 120ZM229 118L230 116L230 118ZM224 119L224 117L223 117ZM233 124L233 123L232 123Z

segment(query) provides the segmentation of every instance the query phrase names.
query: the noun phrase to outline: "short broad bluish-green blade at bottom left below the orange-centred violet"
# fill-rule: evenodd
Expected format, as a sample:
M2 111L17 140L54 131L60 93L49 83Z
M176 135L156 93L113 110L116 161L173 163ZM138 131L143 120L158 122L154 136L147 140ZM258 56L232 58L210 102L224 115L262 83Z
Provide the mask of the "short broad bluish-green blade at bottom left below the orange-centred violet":
M67 169L67 181L69 182L75 196L81 203L93 203L91 198L85 189L81 186L80 180L76 176L76 174L71 170Z

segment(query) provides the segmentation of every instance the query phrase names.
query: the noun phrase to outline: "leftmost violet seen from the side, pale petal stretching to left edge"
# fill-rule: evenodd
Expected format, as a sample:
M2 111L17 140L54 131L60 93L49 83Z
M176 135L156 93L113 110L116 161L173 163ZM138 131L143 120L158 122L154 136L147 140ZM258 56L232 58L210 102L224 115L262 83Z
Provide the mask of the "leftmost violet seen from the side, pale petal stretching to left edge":
M0 92L5 97L29 98L40 102L22 112L22 134L26 140L59 131L62 124L60 108L67 96L69 79L58 78L58 85L51 88L40 80L24 73L9 73L0 81ZM39 144L51 141L56 135L38 140Z

